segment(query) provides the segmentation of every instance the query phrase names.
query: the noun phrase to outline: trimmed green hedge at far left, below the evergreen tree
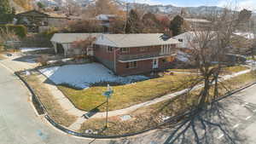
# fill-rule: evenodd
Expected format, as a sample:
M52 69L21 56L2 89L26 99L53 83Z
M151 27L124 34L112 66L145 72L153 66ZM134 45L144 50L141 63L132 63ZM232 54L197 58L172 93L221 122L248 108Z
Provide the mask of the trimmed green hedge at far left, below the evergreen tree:
M14 31L21 38L26 37L26 27L23 25L0 25L0 29Z

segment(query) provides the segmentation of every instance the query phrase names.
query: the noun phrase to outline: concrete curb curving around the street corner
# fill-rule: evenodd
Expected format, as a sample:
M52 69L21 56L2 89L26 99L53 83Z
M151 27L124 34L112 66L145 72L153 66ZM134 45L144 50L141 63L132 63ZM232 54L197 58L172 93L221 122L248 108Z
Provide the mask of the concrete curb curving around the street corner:
M174 116L174 117L169 118L168 120L166 120L166 122L158 124L158 125L156 125L154 127L151 127L147 130L140 130L140 131L125 134L125 135L91 135L91 134L79 133L79 132L75 132L73 130L68 130L67 128L63 127L61 124L55 123L55 121L52 118L50 118L50 116L48 115L48 112L47 112L46 108L44 107L43 103L38 99L38 96L35 95L33 89L29 86L29 84L26 83L26 81L23 78L20 77L20 72L15 72L15 75L18 78L20 78L20 80L26 85L27 89L29 89L29 91L32 93L32 104L36 108L38 114L39 115L45 114L44 118L50 124L52 124L52 126L54 126L57 130L61 130L62 132L66 133L66 134L69 134L69 135L74 135L74 136L79 136L79 137L84 137L84 138L94 138L94 139L124 138L124 137L128 137L128 136L143 134L143 133L148 132L150 130L156 130L156 129L160 128L160 126L164 126L165 124L168 124L172 121L177 121L178 119L183 118L183 117L185 117L186 115L188 115L190 113L190 112L186 112L186 113L183 113L181 115ZM226 95L224 95L223 97L219 98L218 100L212 101L212 102L221 101L224 98L229 97L230 95L234 95L234 94L236 94L237 92L240 92L243 89L247 89L247 88L253 86L254 84L256 84L256 82L253 82L251 84L246 84L242 88L233 90L233 91L227 93Z

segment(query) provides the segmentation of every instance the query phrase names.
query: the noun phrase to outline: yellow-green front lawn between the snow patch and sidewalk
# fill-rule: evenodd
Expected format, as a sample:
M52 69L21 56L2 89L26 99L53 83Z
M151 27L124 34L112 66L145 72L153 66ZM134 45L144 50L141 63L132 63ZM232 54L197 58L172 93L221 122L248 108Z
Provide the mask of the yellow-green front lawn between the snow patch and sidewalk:
M109 101L109 110L117 110L132 105L150 101L156 97L166 95L181 89L187 88L185 83L191 77L186 74L165 75L162 78L152 78L136 84L126 84L113 86L113 96ZM95 86L90 89L72 89L66 86L58 86L73 104L84 111L101 105L106 101L102 93L107 89L105 86ZM98 107L100 111L105 111L105 105Z

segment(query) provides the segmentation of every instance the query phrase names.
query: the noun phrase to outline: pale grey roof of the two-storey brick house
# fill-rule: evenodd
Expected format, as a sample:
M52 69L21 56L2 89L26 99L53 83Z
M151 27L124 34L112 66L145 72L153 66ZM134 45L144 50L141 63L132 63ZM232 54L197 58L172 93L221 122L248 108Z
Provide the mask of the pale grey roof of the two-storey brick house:
M145 34L102 34L96 44L108 45L118 48L143 47L151 45L180 43L176 39L166 37L163 33Z

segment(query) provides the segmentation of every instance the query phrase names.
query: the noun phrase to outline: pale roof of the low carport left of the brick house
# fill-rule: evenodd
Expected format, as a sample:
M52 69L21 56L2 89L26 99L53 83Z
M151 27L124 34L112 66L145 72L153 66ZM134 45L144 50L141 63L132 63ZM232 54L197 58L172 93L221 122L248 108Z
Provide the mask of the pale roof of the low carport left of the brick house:
M55 33L50 41L55 43L73 43L79 40L85 40L88 37L98 37L101 33Z

